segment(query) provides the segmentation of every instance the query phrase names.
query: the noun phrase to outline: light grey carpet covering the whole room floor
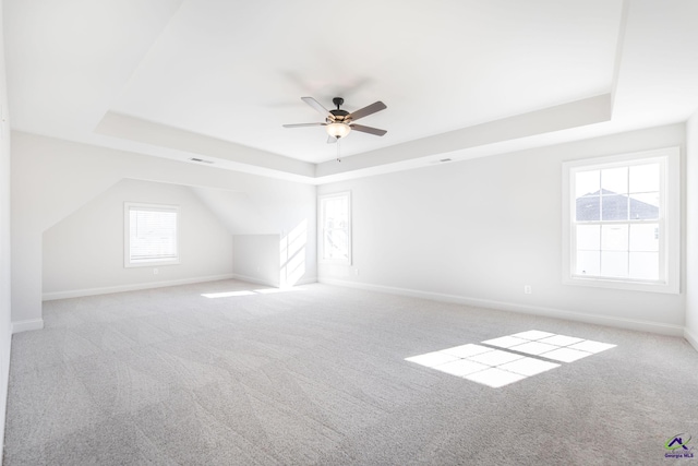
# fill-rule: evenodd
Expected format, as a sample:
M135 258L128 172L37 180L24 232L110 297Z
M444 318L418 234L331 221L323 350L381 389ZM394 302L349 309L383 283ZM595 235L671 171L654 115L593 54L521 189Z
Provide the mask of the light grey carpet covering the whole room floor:
M45 328L13 337L4 464L698 464L698 353L683 338L275 291L222 280L45 302Z

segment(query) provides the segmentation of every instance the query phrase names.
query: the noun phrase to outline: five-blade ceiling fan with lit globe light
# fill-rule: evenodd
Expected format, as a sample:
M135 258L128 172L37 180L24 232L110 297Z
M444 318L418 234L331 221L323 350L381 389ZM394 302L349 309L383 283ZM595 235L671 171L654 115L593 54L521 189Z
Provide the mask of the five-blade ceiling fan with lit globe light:
M333 104L337 106L335 110L327 110L321 103L312 97L301 97L305 104L313 107L325 118L324 123L296 123L284 124L284 128L304 128L304 127L325 127L327 130L327 144L337 142L340 138L346 138L351 130L361 131L362 133L374 134L382 136L387 133L386 130L380 130L377 128L364 127L363 124L357 124L359 118L368 117L376 111L385 110L387 107L381 100L375 101L368 107L363 107L357 111L349 113L347 110L342 110L339 107L345 103L341 97L335 97L332 99Z

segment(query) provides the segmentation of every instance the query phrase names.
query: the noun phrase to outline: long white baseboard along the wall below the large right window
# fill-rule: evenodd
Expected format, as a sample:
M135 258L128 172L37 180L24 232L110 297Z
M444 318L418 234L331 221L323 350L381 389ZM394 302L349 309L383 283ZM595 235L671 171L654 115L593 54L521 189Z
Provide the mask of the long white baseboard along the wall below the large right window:
M640 332L651 332L662 335L684 336L685 328L681 325L664 324L661 322L641 321L636 319L612 318L607 315L587 314L582 312L565 311L537 306L516 304L512 302L494 301L490 299L469 298L466 296L446 295L441 292L422 291L392 286L371 285L359 282L347 282L335 278L318 278L320 283L337 285L349 288L365 289L370 291L387 292L390 295L409 296L413 298L431 299L433 301L455 302L458 304L479 308L497 309L502 311L519 312L524 314L543 315L547 318L565 319L568 321L586 322L590 324L629 328ZM695 346L695 345L694 345Z

